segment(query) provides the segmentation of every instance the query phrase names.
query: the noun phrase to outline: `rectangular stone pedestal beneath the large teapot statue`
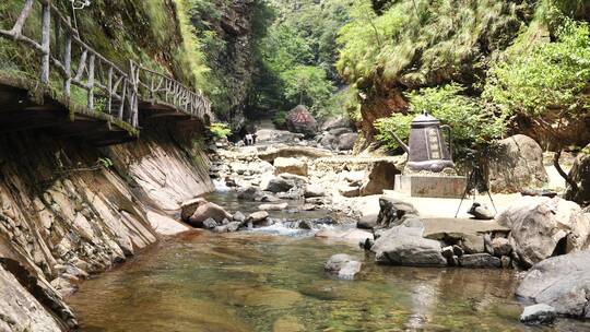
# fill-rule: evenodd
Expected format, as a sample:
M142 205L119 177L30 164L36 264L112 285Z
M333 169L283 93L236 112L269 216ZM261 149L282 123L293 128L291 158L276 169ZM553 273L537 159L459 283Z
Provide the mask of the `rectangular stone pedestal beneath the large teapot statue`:
M465 186L463 176L396 175L396 191L411 197L460 199Z

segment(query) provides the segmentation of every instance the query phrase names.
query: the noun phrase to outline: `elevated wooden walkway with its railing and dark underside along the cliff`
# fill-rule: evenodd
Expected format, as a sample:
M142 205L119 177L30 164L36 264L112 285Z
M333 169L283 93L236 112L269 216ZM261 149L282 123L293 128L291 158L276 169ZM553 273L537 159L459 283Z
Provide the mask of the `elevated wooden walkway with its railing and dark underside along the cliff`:
M36 54L36 76L0 72L0 133L44 129L61 138L110 145L139 137L150 119L213 119L210 102L165 74L129 62L123 70L80 39L51 0L21 0L22 11L0 37ZM40 35L27 24L42 13ZM1 50L0 50L1 51Z

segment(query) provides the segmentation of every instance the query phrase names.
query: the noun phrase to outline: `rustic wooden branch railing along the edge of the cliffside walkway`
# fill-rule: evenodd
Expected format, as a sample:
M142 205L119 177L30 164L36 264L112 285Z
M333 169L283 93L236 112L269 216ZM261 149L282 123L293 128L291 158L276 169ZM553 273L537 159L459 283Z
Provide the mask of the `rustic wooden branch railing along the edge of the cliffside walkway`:
M40 37L24 33L35 3L40 3ZM133 62L126 72L95 51L81 40L70 19L62 15L51 0L25 0L12 28L0 29L0 36L38 54L43 84L50 84L55 71L61 79L67 99L72 98L72 85L80 87L85 92L85 104L91 111L107 112L134 128L139 124L140 99L167 103L178 111L201 119L210 115L211 105L200 92L194 93L180 82Z

